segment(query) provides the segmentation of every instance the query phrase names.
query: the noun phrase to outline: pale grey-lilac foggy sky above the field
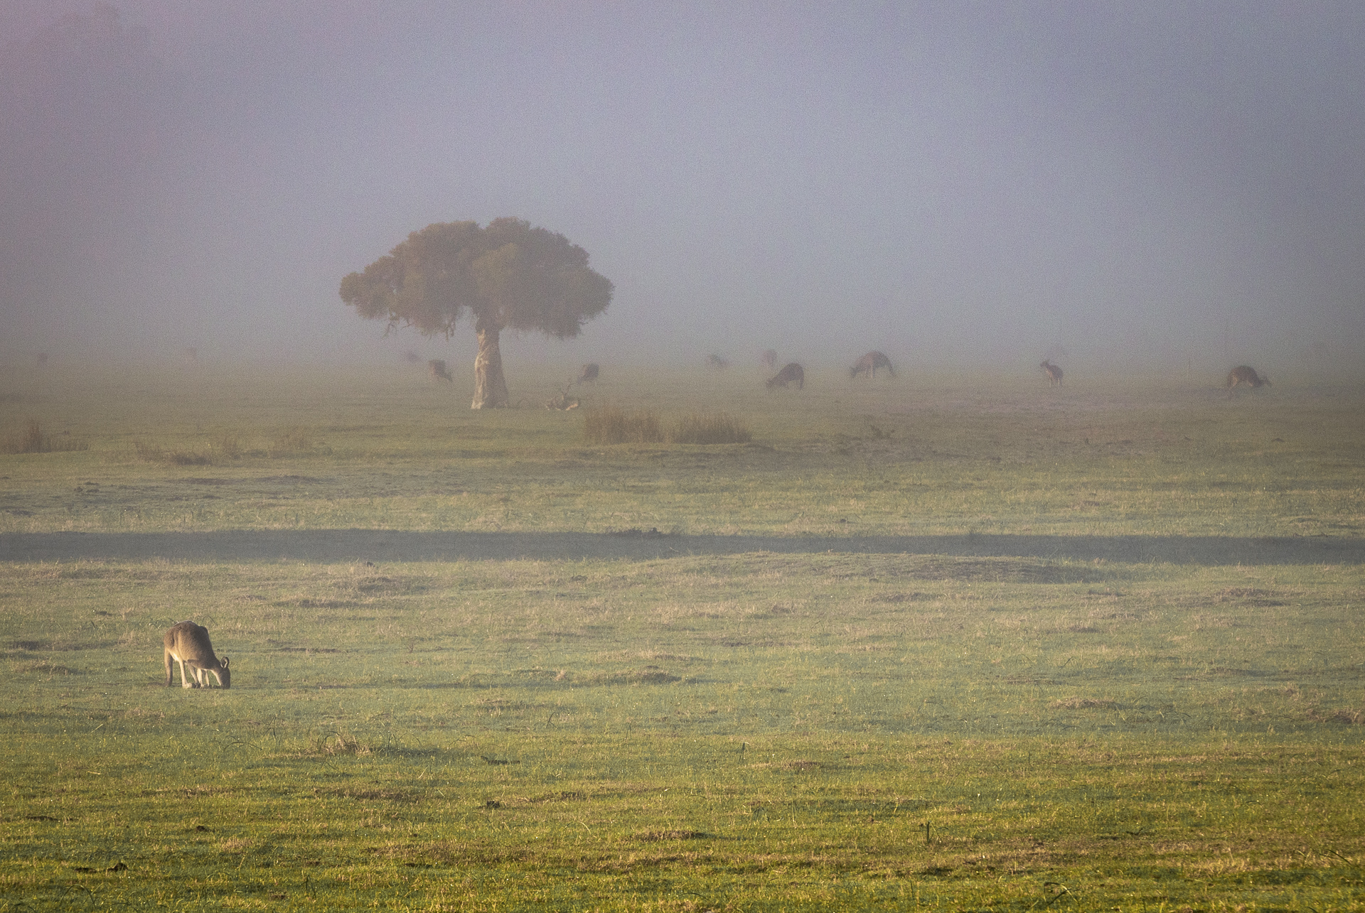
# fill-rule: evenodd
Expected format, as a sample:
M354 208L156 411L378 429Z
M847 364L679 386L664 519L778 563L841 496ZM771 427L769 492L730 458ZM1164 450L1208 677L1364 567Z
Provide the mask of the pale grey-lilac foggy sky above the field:
M0 0L4 358L472 358L337 285L517 216L616 298L512 374L1362 360L1355 0L113 5Z

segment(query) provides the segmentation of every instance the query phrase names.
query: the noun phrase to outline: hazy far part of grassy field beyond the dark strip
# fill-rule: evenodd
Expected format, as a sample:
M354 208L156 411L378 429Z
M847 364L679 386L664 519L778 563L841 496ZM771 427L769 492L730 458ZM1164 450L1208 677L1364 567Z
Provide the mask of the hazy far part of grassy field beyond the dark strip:
M513 375L539 404L562 371ZM418 371L16 377L0 532L390 528L801 535L1360 536L1365 390L603 370L584 408L467 408ZM590 446L584 412L725 411L722 446ZM141 453L139 453L141 452Z

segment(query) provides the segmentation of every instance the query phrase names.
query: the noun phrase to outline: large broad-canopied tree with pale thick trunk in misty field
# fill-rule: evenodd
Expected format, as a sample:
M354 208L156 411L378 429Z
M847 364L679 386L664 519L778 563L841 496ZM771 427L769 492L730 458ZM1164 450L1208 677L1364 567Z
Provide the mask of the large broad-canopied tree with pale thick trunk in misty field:
M341 280L341 300L360 317L386 318L449 338L468 313L479 334L474 408L508 405L498 334L539 330L557 338L612 302L612 282L588 269L588 254L564 235L520 218L437 222Z

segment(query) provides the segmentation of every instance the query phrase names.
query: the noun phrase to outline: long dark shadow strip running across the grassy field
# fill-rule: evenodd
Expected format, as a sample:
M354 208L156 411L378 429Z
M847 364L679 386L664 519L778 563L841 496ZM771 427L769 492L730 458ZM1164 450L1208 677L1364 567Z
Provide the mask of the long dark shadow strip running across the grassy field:
M624 536L594 532L229 530L222 532L15 532L0 561L647 561L685 555L908 554L1188 565L1361 564L1354 538L1234 536Z

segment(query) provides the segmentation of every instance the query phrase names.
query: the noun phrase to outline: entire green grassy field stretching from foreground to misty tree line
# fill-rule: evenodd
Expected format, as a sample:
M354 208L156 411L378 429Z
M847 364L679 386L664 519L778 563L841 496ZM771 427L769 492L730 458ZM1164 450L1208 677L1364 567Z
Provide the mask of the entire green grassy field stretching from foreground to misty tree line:
M0 375L0 909L1365 909L1365 390L581 396Z

